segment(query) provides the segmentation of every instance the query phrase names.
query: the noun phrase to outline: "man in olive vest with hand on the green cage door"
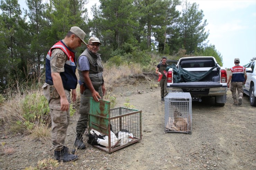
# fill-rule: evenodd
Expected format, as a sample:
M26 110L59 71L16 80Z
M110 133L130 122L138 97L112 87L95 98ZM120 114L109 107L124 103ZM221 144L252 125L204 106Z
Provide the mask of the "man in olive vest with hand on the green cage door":
M77 62L80 84L80 117L76 124L76 139L74 145L78 149L85 149L83 143L83 133L87 128L88 113L90 102L88 97L93 97L99 101L105 92L105 85L102 76L103 65L100 54L100 40L97 37L91 37L87 44L87 49L80 55Z

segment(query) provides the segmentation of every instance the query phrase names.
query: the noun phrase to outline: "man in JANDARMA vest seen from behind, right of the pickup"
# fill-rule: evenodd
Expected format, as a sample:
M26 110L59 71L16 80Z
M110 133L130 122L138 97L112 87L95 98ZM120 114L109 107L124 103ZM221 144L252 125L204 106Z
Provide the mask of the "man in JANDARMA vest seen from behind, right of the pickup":
M232 92L232 97L234 99L234 105L241 105L243 99L243 85L246 82L247 74L245 71L245 67L240 66L239 58L235 58L234 60L235 66L230 68L229 78L228 78L228 87L230 87L230 80L231 80L231 87L230 91ZM238 102L236 98L236 89L238 92Z

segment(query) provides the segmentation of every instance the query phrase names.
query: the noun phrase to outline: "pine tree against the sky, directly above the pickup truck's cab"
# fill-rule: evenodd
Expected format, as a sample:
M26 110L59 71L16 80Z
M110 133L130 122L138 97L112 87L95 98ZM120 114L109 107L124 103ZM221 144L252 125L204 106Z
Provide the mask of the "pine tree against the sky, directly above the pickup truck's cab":
M203 11L198 9L196 3L192 5L185 1L182 9L180 30L183 46L187 53L194 53L198 47L208 38L209 33L205 32L207 20L203 21Z

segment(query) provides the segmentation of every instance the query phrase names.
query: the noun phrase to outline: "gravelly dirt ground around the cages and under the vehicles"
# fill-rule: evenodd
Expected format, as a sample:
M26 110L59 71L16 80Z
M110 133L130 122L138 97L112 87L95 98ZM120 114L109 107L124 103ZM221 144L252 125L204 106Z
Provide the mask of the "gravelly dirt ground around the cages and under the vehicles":
M152 74L121 81L111 94L117 95L116 107L129 100L142 110L142 140L113 153L106 153L87 144L77 151L75 162L60 163L56 169L72 170L254 170L256 169L256 111L243 98L234 106L230 89L224 107L214 106L214 98L192 102L192 134L164 133L164 102ZM71 118L66 146L73 147L79 114ZM0 131L0 136L5 136ZM85 137L86 139L86 137ZM51 142L31 141L28 136L8 134L0 139L14 147L15 153L0 155L0 169L24 169L36 166L39 160L54 158Z

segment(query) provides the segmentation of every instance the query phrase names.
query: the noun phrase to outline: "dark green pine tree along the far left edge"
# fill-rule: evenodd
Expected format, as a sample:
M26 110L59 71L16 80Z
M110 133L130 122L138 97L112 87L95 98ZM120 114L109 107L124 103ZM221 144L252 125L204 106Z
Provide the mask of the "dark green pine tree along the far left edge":
M21 18L20 5L17 0L1 0L0 9L0 35L1 35L1 61L0 72L0 88L7 86L12 81L16 71L20 72L20 80L25 76L22 71L25 61L24 48L26 49L26 41L22 38L25 25L25 18ZM24 48L21 48L24 47ZM3 57L4 56L4 57Z

